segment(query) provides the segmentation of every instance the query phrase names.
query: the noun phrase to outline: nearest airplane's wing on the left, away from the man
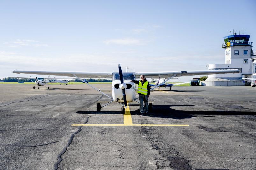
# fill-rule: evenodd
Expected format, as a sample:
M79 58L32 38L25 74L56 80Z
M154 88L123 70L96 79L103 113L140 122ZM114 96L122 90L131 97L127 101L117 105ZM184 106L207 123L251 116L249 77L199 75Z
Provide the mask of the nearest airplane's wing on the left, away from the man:
M13 70L13 73L25 73L36 75L56 75L68 77L90 77L90 78L112 78L112 73L108 72L70 72L70 71L29 71L29 70ZM55 78L58 79L58 78Z

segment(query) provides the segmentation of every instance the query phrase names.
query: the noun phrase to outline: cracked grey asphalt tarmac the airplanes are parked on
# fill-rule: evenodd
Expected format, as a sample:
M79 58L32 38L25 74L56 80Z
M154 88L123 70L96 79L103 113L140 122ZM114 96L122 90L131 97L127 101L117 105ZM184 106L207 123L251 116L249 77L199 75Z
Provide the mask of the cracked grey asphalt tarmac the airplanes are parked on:
M256 169L256 88L160 88L122 115L88 85L49 86L0 84L0 169Z

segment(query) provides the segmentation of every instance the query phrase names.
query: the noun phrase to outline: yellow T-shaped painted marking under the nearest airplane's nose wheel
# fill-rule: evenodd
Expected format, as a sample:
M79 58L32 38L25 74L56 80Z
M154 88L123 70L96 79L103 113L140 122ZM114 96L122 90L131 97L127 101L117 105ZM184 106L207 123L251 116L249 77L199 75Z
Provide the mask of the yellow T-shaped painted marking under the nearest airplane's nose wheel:
M72 124L71 126L189 126L181 124L133 124L130 108L127 108L124 114L124 124Z

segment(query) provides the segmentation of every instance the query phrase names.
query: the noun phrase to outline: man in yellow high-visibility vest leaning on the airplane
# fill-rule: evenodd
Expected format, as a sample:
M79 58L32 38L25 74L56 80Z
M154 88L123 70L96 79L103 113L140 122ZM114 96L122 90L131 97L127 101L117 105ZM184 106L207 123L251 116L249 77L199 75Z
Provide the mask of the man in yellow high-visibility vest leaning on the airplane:
M140 80L131 80L135 84L138 84L138 94L139 94L139 111L140 115L147 114L148 112L148 98L150 94L150 84L145 78L145 75L140 75ZM143 107L144 101L144 107Z

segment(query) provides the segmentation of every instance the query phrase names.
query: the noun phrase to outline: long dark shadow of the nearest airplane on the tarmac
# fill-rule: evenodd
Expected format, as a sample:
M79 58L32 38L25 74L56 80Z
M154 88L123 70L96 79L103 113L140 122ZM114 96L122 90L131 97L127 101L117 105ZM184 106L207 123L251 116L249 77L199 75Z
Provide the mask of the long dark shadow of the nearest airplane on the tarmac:
M139 104L129 104L129 106L139 106ZM153 105L153 110L148 112L148 117L161 117L171 119L188 119L193 117L217 117L215 115L256 115L256 112L244 112L244 111L186 111L176 110L170 107L173 106L194 106L194 105ZM121 114L121 108L118 111L78 111L78 114ZM139 108L134 111L130 111L132 115L139 114Z

